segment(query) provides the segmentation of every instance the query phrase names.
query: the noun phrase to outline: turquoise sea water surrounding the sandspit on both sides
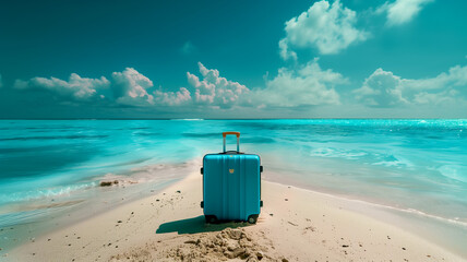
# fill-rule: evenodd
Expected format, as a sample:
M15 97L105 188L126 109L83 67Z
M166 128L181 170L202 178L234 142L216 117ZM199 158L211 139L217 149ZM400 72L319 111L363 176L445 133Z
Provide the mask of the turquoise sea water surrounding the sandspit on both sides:
M106 178L161 188L197 172L223 131L241 132L265 180L467 230L467 120L446 119L1 120L0 228L103 198Z

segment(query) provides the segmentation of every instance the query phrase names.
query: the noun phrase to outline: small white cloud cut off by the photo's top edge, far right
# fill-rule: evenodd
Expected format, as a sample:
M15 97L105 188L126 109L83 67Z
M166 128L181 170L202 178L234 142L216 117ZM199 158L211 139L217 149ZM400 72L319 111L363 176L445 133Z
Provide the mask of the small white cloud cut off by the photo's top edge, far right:
M395 0L385 2L376 13L386 13L387 25L402 25L410 22L427 4L433 0Z

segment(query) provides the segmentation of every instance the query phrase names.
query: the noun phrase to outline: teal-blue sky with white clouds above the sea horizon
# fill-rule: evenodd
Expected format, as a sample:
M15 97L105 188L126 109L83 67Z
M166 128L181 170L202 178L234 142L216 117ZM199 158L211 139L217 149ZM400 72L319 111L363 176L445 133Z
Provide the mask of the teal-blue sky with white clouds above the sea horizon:
M466 118L466 1L2 1L0 118Z

